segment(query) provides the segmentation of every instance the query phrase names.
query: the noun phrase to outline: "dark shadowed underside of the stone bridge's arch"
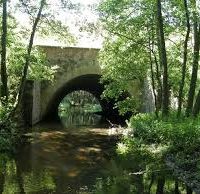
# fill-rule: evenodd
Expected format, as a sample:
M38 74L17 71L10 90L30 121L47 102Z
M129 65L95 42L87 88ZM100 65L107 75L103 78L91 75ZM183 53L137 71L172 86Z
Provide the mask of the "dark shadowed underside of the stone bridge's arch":
M101 111L98 111L100 114L99 116L102 116L102 118L112 123L122 123L125 118L119 116L118 110L114 108L115 102L101 98L104 86L100 83L100 77L101 76L97 74L87 74L76 77L63 84L62 87L55 92L52 100L49 102L44 119L60 120L59 105L65 97L75 91L84 91L85 93L88 92L92 98L99 102L99 106L101 107Z

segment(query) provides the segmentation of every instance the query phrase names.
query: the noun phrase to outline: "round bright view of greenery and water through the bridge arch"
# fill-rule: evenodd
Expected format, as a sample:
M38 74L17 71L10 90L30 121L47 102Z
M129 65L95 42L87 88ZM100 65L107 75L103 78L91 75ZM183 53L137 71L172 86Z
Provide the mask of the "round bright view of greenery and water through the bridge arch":
M59 106L59 116L66 126L98 124L101 116L92 113L101 111L98 99L83 90L68 94Z

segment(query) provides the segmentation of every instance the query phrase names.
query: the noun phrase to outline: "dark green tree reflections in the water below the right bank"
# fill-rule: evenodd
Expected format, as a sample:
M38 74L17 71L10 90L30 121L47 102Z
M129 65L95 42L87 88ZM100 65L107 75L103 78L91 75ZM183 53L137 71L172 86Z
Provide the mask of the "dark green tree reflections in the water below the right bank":
M139 163L138 163L139 162ZM115 162L114 162L115 163ZM136 161L139 167L142 161ZM113 165L113 164L112 164ZM172 172L144 172L114 164L102 178L98 178L93 194L192 194L192 190L173 177ZM159 164L156 164L159 165ZM141 169L140 169L141 170ZM148 169L147 169L148 170Z

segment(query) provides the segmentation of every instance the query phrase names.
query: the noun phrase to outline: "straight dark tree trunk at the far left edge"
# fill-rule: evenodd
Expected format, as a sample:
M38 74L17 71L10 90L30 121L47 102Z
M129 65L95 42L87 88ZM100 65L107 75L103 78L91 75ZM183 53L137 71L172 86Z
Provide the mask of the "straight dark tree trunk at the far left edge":
M3 0L2 35L1 35L1 97L2 104L8 101L8 76L6 67L6 45L7 45L7 0Z

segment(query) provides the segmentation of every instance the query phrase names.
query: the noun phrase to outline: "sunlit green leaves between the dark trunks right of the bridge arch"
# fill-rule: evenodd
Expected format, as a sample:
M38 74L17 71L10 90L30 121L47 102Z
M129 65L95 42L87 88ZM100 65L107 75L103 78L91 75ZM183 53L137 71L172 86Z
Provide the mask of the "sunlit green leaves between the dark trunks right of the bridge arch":
M192 35L188 36L187 53L184 50L187 32L185 5L184 1L172 0L162 1L161 6L170 99L178 98L183 58L187 55L182 96L183 107L185 107L194 54L191 43ZM197 6L196 9L198 10L199 7ZM154 86L152 88L154 88L154 97L158 101L155 104L158 105L158 109L162 108L164 72L163 65L158 60L160 46L157 38L158 26L155 10L155 1L152 0L104 0L101 2L99 11L100 20L105 29L105 41L99 59L102 65L103 80L110 85L106 86L104 95L118 98L123 91L130 91L128 85L131 80L142 82L146 77L153 77L152 86ZM190 16L192 16L193 8L189 2L188 10L189 20L192 23L193 18ZM172 105L171 108L176 107Z

